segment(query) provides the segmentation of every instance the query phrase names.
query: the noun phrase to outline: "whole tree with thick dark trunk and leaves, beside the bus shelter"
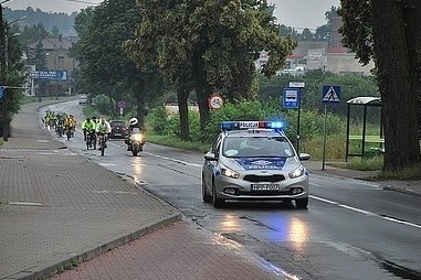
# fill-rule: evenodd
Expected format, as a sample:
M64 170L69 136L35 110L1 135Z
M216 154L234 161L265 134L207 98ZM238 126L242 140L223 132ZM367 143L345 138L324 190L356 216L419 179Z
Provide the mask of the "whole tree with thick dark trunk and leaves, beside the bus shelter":
M420 163L421 2L341 0L346 46L376 63L385 123L383 171Z

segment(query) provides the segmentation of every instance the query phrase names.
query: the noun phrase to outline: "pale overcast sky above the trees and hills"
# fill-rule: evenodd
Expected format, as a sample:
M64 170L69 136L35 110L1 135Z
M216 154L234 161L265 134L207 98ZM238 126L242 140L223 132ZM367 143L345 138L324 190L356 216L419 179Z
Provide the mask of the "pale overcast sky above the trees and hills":
M3 6L13 10L25 10L30 6L45 12L71 13L99 2L102 0L10 0ZM326 24L325 12L329 11L331 6L339 6L339 0L269 0L269 2L276 4L275 17L280 23L312 30Z

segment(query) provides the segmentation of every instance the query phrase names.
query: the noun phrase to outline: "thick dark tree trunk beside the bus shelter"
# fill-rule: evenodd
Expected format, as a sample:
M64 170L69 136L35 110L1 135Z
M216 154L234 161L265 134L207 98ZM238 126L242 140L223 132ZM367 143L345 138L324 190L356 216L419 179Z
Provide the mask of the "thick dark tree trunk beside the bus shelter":
M385 120L383 171L397 171L420 162L418 96L411 91L403 3L372 0L372 19Z

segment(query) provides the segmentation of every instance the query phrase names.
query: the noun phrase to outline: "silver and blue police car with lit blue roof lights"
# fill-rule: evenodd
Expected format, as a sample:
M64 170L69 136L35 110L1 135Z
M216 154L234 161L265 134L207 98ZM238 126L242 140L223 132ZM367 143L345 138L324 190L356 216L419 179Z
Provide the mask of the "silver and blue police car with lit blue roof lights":
M294 201L308 205L308 171L283 131L282 121L224 121L204 154L202 200L222 207L225 201Z

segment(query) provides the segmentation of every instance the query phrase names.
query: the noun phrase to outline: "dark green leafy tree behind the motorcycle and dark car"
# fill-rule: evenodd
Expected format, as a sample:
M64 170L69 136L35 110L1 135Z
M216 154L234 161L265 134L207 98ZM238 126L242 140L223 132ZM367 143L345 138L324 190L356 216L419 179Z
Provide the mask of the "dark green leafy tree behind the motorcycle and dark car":
M72 55L81 63L84 84L91 85L88 89L107 93L110 103L134 99L143 125L146 104L154 93L149 85L157 75L154 69L138 68L123 51L123 43L134 37L140 19L135 0L105 1L82 11L75 20L80 42Z

